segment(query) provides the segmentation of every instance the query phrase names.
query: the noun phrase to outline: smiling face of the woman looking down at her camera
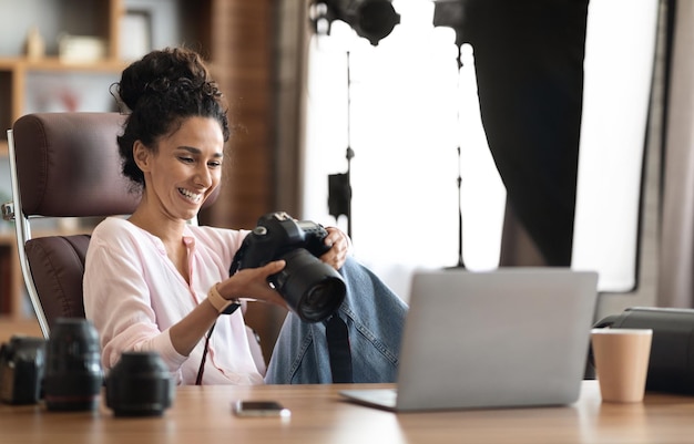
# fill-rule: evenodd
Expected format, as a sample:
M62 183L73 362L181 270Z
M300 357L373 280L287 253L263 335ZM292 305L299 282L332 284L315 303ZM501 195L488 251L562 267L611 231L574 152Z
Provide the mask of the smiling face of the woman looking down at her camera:
M211 117L187 117L159 140L156 152L135 142L134 156L144 173L147 205L174 220L188 220L220 185L224 137Z

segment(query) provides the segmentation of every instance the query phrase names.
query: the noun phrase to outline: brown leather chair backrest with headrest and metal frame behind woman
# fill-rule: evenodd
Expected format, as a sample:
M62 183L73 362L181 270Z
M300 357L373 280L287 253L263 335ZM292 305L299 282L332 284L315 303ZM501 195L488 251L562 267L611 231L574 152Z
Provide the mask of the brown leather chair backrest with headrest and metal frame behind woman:
M12 206L24 285L48 338L55 319L84 317L89 234L32 237L37 218L131 214L139 202L120 174L118 113L41 113L8 131Z

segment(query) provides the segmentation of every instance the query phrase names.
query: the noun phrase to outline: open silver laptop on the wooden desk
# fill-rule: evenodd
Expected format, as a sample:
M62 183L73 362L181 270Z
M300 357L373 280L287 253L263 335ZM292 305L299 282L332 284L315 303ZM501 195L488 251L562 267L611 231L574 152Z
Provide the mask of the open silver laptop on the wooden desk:
M395 390L344 390L397 412L568 405L585 372L598 275L418 270Z

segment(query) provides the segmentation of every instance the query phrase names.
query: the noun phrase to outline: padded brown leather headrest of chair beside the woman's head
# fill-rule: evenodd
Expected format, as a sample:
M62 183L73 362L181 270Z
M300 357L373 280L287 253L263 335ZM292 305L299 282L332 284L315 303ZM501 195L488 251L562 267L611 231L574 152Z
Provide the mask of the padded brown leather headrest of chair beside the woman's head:
M25 216L127 215L140 195L121 174L120 113L37 113L14 122L12 134ZM211 205L218 190L205 206Z

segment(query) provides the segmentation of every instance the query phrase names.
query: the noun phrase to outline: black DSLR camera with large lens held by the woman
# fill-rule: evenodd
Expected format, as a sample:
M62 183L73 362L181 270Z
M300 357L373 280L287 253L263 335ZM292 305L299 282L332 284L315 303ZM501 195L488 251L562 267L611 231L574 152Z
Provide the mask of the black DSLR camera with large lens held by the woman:
M266 214L244 239L229 272L284 259L285 268L269 276L269 283L303 321L323 321L338 309L347 291L340 275L318 259L330 249L324 244L327 234L323 226L283 211Z

